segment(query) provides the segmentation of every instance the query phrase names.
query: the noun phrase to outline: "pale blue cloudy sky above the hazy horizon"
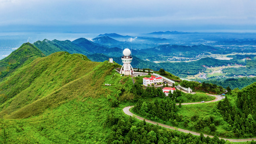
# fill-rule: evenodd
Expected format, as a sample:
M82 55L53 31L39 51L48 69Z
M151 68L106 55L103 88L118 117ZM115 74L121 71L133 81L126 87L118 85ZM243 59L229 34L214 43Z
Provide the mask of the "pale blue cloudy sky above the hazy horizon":
M0 32L256 32L256 0L0 0Z

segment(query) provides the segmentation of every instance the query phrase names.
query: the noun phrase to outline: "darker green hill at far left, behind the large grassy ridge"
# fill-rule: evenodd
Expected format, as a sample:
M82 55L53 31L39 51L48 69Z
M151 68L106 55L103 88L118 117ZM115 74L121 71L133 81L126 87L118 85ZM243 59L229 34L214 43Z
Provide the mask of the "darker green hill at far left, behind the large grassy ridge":
M9 56L0 60L0 79L8 76L23 64L26 65L36 58L45 55L32 44L24 43L17 50L14 50Z

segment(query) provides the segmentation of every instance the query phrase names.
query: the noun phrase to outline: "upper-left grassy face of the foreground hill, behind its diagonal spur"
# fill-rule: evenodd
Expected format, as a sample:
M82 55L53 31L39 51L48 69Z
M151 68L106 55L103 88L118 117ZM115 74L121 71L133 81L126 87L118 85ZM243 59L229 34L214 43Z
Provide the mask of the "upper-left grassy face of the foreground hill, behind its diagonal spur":
M67 52L34 60L0 83L0 116L57 92L69 82L91 72L98 64L81 54Z

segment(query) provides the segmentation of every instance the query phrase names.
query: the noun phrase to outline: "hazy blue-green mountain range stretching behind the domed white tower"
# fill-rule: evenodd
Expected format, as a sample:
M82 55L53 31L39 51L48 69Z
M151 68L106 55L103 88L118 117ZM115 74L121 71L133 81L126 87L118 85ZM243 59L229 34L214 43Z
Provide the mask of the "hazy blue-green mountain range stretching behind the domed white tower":
M161 38L151 38L157 39L160 41L165 41L167 39ZM119 57L122 56L122 47L123 48L133 48L132 55L137 56L140 59L148 59L148 60L162 60L162 56L197 56L201 53L217 51L218 48L212 46L205 46L203 44L195 45L195 46L180 46L180 45L171 45L171 44L163 44L163 45L150 45L150 44L134 44L132 42L120 42L109 36L101 36L97 38L93 38L92 41L87 40L86 38L78 38L74 41L59 41L59 40L43 40L37 41L34 45L39 48L45 55L52 54L54 52L66 51L71 54L79 53L79 54L95 54L101 53L110 57ZM147 46L149 48L145 48ZM150 47L152 46L152 47ZM144 47L144 49L135 48ZM207 54L207 53L206 53Z

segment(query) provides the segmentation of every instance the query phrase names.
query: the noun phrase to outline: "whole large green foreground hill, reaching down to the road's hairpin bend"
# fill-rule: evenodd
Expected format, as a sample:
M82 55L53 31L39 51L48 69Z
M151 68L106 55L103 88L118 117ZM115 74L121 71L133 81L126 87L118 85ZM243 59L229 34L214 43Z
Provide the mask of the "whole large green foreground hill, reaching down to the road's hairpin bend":
M0 82L0 143L225 143L124 114L122 108L137 100L160 99L177 106L161 88L133 85L132 78L114 70L117 66L91 62L82 54L55 52L18 68Z

